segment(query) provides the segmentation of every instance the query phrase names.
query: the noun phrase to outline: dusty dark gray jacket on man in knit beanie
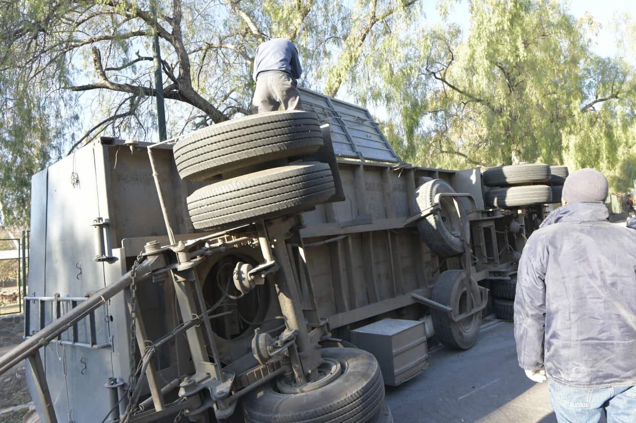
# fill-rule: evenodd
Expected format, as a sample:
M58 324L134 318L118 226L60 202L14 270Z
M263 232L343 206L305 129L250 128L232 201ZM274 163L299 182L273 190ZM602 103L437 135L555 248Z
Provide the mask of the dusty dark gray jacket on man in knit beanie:
M636 385L636 231L602 203L550 213L528 239L515 298L519 365L577 387Z

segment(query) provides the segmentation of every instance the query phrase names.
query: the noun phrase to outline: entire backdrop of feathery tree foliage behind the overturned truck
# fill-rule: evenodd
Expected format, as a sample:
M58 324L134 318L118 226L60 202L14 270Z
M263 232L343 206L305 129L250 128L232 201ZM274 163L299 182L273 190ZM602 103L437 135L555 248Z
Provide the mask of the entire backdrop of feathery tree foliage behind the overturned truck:
M565 0L563 0L565 1ZM158 32L169 136L247 114L254 50L298 46L303 86L374 105L396 151L426 166L594 166L624 185L634 146L636 24L623 55L563 1L469 2L471 28L431 26L418 0L25 0L0 9L0 210L26 225L32 173L99 135L156 137ZM439 0L452 17L457 1ZM384 119L385 117L385 119ZM83 131L83 133L82 133ZM621 170L622 169L622 170Z

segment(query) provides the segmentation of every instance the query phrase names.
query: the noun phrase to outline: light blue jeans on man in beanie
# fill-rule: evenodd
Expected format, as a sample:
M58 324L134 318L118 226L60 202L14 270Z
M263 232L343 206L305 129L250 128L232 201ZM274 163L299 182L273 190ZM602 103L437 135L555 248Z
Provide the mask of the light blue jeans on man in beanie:
M636 422L636 386L576 388L548 379L550 404L559 423Z

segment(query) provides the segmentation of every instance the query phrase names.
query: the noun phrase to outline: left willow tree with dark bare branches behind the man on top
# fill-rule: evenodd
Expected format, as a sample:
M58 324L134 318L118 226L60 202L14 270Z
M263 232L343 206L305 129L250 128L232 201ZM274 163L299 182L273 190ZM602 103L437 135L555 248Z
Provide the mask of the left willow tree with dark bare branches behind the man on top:
M26 0L0 8L0 213L24 222L29 178L99 135L156 133L151 40L169 136L249 113L254 51L292 39L301 84L331 95L417 0Z

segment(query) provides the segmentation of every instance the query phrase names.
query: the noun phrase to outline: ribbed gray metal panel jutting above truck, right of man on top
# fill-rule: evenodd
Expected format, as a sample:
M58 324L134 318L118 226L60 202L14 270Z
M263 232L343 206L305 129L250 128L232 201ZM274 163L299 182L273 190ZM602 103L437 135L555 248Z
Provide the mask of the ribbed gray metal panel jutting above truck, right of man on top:
M302 107L331 125L336 156L401 163L368 109L299 88Z

